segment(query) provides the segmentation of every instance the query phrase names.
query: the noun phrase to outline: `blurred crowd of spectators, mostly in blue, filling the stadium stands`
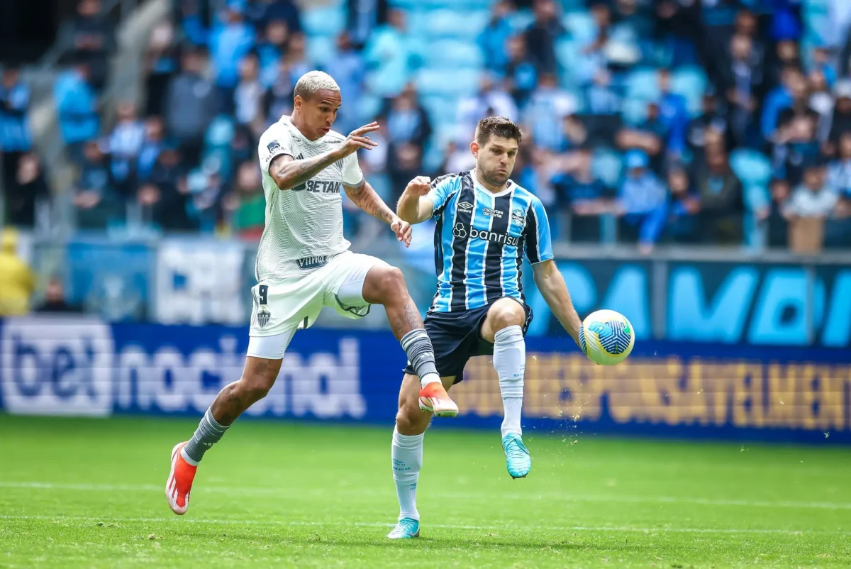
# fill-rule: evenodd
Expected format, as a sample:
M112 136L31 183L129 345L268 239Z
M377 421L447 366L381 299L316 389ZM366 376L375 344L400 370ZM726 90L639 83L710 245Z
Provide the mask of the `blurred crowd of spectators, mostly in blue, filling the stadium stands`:
M145 101L119 103L114 124L99 106L114 32L100 0L79 4L54 102L81 229L134 210L165 231L257 239L258 137L320 68L342 90L334 129L382 125L361 164L393 204L414 175L471 168L474 125L500 114L523 124L513 178L543 200L556 239L851 246L844 0L222 4L175 0L151 34ZM6 68L6 211L25 226L48 193L27 93ZM365 230L344 204L347 231Z

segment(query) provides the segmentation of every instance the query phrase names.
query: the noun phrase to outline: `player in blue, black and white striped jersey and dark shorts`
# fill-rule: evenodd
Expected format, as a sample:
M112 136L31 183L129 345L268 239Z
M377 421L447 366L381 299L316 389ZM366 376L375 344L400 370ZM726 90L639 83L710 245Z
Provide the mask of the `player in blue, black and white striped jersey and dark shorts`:
M508 474L525 477L532 459L520 426L524 336L532 309L523 299L521 265L525 253L535 283L552 312L579 344L579 315L553 261L550 225L544 205L509 179L523 134L507 118L481 120L470 149L476 169L431 181L418 176L399 199L397 215L408 223L434 218L437 294L426 316L437 372L449 389L463 379L467 360L494 356L505 418L502 446ZM431 415L420 401L420 380L408 365L399 394L391 447L399 517L387 537L418 537L417 480L423 435Z

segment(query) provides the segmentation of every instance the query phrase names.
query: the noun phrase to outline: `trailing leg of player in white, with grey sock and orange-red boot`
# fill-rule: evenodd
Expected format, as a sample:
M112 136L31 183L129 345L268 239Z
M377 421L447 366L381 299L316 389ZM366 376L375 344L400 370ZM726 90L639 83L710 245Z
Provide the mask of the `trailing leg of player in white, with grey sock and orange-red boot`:
M172 449L171 471L168 473L165 495L174 514L186 514L186 509L189 508L192 480L195 479L198 463L201 462L204 453L219 442L227 428L243 414L243 411L269 393L278 371L281 371L283 349L286 348L292 335L293 332L289 331L280 336L252 337L252 343L255 347L260 346L260 350L266 349L263 347L271 344L283 344L280 356L273 359L277 353L268 354L271 358L249 355L245 359L243 376L239 378L239 381L226 385L219 392L213 405L210 405L201 422L198 423L192 438L175 445ZM248 353L256 353L257 348L253 349L249 345L248 350ZM271 351L277 352L277 348ZM262 355L267 354L262 353Z

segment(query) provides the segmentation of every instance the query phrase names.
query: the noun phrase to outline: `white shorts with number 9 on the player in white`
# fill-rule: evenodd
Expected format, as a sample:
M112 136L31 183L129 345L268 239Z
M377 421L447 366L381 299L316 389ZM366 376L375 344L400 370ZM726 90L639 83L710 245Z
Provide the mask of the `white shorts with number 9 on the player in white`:
M323 307L333 307L350 319L366 316L369 303L363 300L363 281L378 264L385 263L374 256L345 251L303 277L255 284L251 287L254 309L248 355L282 359L295 330L313 325Z

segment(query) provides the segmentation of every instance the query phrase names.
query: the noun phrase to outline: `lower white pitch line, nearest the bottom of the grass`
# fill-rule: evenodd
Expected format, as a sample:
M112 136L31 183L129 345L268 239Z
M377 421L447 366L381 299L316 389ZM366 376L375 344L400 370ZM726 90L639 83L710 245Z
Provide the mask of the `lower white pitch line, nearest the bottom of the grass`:
M299 520L217 520L217 519L187 519L177 516L168 518L113 518L83 515L3 515L0 520L44 520L44 521L83 521L83 522L136 522L136 523L181 523L181 524L230 524L243 526L357 526L357 527L392 527L380 521L351 522L351 521L299 521ZM437 527L448 530L473 530L481 532L516 532L517 530L548 530L553 532L637 532L637 533L780 533L784 535L851 535L844 530L781 530L760 528L710 528L710 527L617 527L617 526L460 526L453 524L428 524L427 527Z

